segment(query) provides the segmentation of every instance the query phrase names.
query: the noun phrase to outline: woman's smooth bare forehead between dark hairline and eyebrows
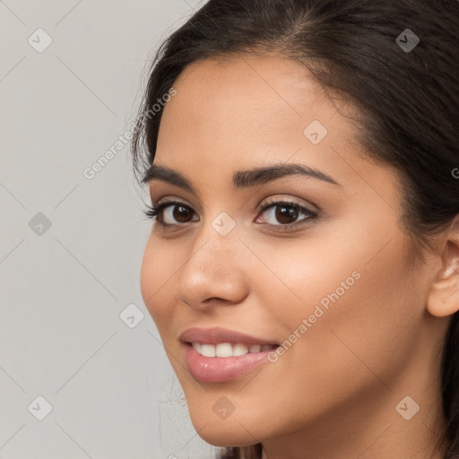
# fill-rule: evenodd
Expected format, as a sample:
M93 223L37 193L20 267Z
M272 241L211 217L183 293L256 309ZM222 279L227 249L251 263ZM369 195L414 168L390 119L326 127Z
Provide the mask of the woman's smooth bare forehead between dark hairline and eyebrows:
M278 56L231 56L186 67L174 82L177 95L164 109L158 160L176 162L238 157L287 160L299 148L319 151L305 137L314 121L325 126L325 144L352 141L351 123L298 62ZM204 158L205 157L205 158ZM165 158L163 158L165 160ZM298 159L298 158L297 158Z

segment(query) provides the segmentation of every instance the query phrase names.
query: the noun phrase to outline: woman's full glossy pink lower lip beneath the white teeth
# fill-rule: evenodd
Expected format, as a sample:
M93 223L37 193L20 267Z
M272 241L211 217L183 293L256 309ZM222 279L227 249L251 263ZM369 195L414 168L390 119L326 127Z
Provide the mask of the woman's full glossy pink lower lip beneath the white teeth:
M251 369L266 363L272 351L248 352L237 357L204 357L186 343L186 363L195 379L203 383L224 383L246 375Z

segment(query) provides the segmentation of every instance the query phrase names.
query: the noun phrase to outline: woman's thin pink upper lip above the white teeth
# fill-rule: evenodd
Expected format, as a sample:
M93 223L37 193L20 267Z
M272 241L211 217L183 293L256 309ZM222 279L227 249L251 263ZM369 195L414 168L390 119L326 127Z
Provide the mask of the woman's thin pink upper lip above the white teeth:
M227 328L188 328L180 334L183 342L201 342L202 344L219 344L221 342L234 342L243 344L277 344L277 342L256 338L245 333L235 332Z

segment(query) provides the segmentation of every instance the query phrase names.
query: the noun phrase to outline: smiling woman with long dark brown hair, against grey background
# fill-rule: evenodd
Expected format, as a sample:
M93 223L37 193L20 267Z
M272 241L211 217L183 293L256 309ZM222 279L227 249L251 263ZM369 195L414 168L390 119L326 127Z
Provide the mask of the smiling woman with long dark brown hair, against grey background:
M455 0L210 0L158 51L142 294L221 457L459 457L458 30Z

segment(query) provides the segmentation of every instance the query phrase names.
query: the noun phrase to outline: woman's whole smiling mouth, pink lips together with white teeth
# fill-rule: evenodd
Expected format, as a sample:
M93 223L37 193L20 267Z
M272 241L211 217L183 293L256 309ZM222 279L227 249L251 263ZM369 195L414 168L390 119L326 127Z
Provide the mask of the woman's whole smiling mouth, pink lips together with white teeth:
M279 344L215 327L190 328L180 335L190 374L202 383L223 383L246 376L268 362Z

